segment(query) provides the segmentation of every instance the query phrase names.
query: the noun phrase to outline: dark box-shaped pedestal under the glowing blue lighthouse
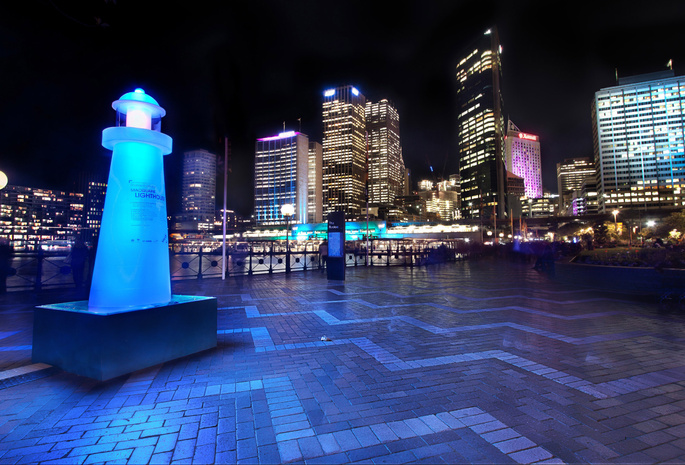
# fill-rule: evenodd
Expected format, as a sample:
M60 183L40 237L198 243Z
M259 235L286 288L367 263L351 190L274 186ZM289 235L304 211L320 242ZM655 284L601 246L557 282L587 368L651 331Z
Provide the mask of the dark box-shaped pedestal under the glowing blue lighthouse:
M216 347L215 297L94 313L88 302L36 307L33 361L100 381Z

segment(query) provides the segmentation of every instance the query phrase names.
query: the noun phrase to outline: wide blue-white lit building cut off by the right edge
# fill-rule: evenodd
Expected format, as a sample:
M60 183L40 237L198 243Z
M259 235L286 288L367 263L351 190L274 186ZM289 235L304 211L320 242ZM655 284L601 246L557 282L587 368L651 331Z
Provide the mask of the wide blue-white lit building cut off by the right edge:
M592 103L601 213L685 205L685 77L620 78Z

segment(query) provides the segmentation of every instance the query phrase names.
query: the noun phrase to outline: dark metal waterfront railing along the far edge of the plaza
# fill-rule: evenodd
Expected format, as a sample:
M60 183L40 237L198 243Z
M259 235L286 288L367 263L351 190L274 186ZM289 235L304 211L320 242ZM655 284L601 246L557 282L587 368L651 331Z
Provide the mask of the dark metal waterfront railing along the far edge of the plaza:
M464 241L412 241L387 239L370 241L368 254L365 242L348 244L345 262L359 266L426 266L431 263L463 260L468 255ZM290 251L284 241L264 241L229 247L226 254L226 276L252 276L284 273L290 260L291 272L325 268L318 243L291 242ZM172 281L183 279L220 278L222 252L203 250L170 251ZM83 285L90 283L93 254L84 264ZM68 251L16 252L10 264L7 290L35 290L76 287Z

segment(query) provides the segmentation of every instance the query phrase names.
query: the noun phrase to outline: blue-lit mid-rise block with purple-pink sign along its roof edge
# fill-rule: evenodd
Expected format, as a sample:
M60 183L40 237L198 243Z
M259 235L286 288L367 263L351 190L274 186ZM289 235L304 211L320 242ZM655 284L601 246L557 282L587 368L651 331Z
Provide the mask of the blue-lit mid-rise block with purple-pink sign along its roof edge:
M295 206L292 223L307 221L309 138L295 131L257 139L255 149L255 222L281 225L281 207Z

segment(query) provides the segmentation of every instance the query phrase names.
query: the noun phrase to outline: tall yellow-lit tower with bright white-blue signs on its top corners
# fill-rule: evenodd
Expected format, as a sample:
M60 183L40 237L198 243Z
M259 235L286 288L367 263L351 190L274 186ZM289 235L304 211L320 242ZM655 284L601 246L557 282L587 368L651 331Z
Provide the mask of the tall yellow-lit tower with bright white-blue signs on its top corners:
M343 211L361 216L366 202L366 98L353 86L336 87L323 98L323 215Z

